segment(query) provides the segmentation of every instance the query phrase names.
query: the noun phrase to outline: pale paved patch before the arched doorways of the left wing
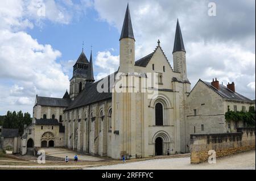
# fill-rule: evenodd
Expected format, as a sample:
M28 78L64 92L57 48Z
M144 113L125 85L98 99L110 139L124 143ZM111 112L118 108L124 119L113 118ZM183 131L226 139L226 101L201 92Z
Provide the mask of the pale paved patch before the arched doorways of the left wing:
M52 157L57 157L57 158L65 158L68 156L70 160L73 160L75 155L77 154L76 151L72 150L67 150L64 148L43 148L44 151L46 151L46 155L52 156ZM93 157L90 155L81 155L77 154L79 160L81 161L101 161L103 160L102 158L99 157Z

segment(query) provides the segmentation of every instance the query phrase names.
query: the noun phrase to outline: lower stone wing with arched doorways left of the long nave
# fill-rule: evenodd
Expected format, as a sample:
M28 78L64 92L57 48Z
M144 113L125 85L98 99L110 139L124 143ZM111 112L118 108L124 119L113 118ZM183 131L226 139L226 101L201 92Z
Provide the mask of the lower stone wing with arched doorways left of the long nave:
M69 102L68 91L63 98L36 95L32 124L24 126L21 154L34 154L34 148L64 146L63 111Z

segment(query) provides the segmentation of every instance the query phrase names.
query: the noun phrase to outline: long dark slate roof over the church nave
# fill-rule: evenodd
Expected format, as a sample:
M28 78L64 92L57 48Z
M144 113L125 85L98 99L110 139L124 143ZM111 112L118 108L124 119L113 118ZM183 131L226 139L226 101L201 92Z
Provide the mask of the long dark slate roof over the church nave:
M114 76L115 76L115 74L117 74L117 71L114 73ZM110 92L110 87L112 87L113 85L110 85L110 78L114 78L113 74L111 74L111 75L112 76L108 75L108 83L109 83L108 92L98 92L97 91L97 85L98 85L98 83L101 83L101 81L102 81L102 79L100 79L100 81L94 82L94 83L92 83L92 85L85 87L85 89L82 90L80 92L80 94L77 95L76 98L71 101L69 106L64 111L72 110L73 108L86 106L88 104L99 102L101 100L111 99L112 92ZM111 82L114 83L114 81L111 81ZM99 86L101 86L101 85L99 85Z

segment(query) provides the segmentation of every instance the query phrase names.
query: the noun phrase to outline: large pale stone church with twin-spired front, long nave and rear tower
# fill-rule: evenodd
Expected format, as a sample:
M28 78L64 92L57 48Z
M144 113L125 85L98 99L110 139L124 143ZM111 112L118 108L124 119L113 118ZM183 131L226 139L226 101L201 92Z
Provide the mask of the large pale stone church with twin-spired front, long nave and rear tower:
M168 149L171 154L184 152L185 100L190 83L179 22L173 49L174 68L160 47L160 41L152 53L135 61L129 6L119 43L119 69L100 81L94 82L92 54L87 75L86 71L77 74L75 64L70 87L72 101L64 110L64 145L82 153L112 158L121 155L150 157L167 154ZM86 64L86 56L81 54L80 57L84 61L79 62ZM129 82L129 79L138 78L142 87L148 73L156 81L154 85L144 86L145 91L114 91L117 86L121 90L129 89L128 85L119 85L120 79ZM98 91L105 86L108 89L104 92ZM157 94L149 95L152 90Z

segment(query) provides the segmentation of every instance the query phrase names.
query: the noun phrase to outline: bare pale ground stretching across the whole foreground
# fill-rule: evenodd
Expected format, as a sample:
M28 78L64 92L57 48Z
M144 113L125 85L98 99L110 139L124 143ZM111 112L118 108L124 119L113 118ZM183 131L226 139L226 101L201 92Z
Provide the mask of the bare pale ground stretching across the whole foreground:
M60 152L65 151L65 153ZM61 154L71 154L71 161L64 163L59 160L49 160L46 164L38 164L36 157L33 156L19 156L15 158L1 157L0 158L0 170L1 169L127 169L127 170L139 170L139 169L166 169L166 170L187 170L187 169L254 169L255 170L255 150L245 153L232 155L230 157L217 158L216 164L200 163L197 165L190 164L189 154L178 154L170 156L158 156L154 158L143 159L130 159L127 163L123 163L119 160L110 158L98 158L89 155L81 155L81 158L85 160L79 160L79 162L73 162L73 154L76 152L64 149L48 150L47 154L57 155L62 157ZM15 156L16 157L16 156ZM62 157L63 158L63 157ZM98 160L98 161L96 161Z

